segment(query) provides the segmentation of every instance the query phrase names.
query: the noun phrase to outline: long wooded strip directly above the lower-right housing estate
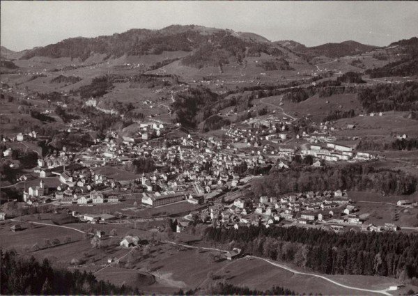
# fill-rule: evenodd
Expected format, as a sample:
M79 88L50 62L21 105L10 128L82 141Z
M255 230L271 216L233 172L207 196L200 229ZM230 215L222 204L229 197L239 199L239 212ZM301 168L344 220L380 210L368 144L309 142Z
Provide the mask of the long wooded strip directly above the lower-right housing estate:
M416 188L415 176L403 171L376 169L371 164L300 167L285 171L273 169L251 187L256 196L336 189L400 195L411 194Z

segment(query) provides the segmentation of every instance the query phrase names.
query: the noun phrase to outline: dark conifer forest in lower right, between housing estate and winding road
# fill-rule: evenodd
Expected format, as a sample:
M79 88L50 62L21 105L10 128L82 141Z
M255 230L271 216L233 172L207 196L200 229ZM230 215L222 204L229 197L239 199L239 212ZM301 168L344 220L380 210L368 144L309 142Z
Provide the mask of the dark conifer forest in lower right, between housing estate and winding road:
M238 247L245 254L294 263L325 274L418 276L418 235L413 233L334 233L300 227L209 227L212 244Z

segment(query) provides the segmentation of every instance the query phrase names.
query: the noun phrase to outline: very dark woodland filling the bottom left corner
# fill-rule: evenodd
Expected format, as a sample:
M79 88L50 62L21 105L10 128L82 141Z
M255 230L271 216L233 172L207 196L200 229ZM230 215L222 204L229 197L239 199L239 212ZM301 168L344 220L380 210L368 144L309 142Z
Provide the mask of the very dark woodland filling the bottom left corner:
M51 266L45 258L40 263L33 256L24 258L15 251L0 250L0 293L2 295L133 295L139 294L126 286L98 281L91 273L70 272Z

